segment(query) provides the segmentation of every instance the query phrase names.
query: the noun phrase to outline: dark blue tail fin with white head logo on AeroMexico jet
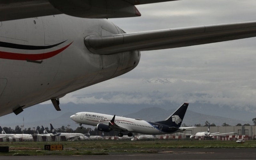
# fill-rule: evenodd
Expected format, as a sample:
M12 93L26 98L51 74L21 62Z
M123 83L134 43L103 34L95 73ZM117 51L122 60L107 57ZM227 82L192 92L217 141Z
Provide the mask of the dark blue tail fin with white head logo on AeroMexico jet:
M188 103L183 103L172 115L170 115L165 121L159 121L157 123L165 124L168 126L179 128L184 115L187 111Z

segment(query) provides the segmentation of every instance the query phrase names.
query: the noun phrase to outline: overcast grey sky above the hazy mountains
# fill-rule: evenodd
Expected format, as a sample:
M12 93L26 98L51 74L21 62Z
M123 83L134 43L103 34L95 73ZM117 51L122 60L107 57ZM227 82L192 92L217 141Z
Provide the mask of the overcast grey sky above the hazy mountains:
M141 17L109 19L125 32L197 25L256 21L255 0L180 0L136 6ZM161 104L148 93L166 93L163 99L182 103L228 105L254 111L256 98L256 38L207 45L141 52L139 65L129 73L67 94L61 103ZM168 78L168 85L143 80ZM118 94L108 98L98 92ZM93 95L95 94L95 95ZM49 102L49 101L48 101ZM48 103L47 102L47 103Z

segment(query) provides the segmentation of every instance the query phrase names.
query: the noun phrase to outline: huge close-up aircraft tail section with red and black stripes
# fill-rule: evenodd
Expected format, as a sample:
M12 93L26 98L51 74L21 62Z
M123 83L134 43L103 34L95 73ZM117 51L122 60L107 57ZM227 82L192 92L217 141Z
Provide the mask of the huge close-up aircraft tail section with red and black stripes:
M125 33L108 18L172 0L0 1L0 116L16 115L135 68L140 51L256 36L256 22Z

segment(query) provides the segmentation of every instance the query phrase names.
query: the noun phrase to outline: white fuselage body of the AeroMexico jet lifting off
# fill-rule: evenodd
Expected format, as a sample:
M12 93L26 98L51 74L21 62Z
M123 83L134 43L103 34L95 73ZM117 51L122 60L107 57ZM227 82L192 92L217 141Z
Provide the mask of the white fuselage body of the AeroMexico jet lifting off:
M92 126L97 126L99 123L107 124L111 121L114 115L106 115L100 113L93 112L79 112L75 115L72 115L70 118L79 123L79 124L87 124ZM129 132L141 133L141 134L149 134L149 135L161 135L166 134L164 132L159 131L159 129L155 128L152 124L147 121L126 117L115 117L116 125L127 129Z

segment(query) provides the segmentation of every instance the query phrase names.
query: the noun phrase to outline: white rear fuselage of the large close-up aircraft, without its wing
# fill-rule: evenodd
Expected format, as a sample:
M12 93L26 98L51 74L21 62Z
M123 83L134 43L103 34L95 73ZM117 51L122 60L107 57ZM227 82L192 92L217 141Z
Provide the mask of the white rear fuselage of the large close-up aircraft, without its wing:
M84 45L86 36L119 33L124 31L107 19L64 14L1 22L0 42L12 45L0 46L0 116L60 98L135 68L139 51L98 55ZM48 49L30 47L55 44L59 45Z

